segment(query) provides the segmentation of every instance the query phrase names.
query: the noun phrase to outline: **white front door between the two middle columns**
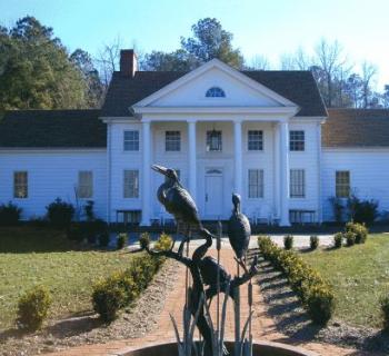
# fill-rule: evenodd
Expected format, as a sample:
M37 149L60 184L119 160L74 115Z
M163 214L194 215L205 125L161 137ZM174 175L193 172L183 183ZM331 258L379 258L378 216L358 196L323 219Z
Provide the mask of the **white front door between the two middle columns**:
M219 219L222 215L223 201L222 170L212 168L206 171L206 217Z

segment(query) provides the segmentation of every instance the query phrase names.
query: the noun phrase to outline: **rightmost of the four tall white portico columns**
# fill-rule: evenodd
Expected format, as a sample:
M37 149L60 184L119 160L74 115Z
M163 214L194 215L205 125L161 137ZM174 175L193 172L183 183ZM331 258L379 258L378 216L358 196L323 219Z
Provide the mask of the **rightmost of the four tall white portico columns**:
M280 225L289 222L289 128L288 122L279 123L280 136Z

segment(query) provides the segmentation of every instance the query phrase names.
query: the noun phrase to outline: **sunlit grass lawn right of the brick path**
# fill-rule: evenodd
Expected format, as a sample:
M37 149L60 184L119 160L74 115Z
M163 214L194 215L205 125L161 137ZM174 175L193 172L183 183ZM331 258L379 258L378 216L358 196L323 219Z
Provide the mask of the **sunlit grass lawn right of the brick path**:
M381 326L379 299L389 295L389 235L369 235L365 245L318 249L301 257L332 284L336 318Z

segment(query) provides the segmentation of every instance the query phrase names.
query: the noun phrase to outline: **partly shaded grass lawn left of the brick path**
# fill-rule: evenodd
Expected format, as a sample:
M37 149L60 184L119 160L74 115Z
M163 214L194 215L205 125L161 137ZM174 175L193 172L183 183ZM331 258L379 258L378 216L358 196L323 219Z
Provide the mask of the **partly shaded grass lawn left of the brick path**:
M91 310L91 286L124 269L130 255L74 250L63 233L48 228L0 228L0 329L12 326L19 296L46 285L52 293L51 317Z

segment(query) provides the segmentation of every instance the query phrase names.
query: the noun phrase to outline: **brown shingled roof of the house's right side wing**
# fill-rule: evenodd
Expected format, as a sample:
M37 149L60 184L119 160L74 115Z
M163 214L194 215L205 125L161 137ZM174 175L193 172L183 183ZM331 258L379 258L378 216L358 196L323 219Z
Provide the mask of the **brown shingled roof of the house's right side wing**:
M389 110L328 109L323 147L389 147Z

